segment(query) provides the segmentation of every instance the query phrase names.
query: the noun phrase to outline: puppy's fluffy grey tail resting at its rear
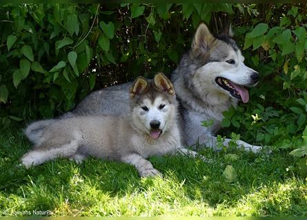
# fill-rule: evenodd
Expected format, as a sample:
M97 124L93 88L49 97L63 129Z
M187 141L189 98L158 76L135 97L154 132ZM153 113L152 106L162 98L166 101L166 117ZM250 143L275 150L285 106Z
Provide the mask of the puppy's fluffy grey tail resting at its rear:
M40 120L33 122L24 129L23 133L25 133L30 142L38 144L41 137L43 137L43 131L45 131L46 127L50 126L52 122L55 122L55 120Z

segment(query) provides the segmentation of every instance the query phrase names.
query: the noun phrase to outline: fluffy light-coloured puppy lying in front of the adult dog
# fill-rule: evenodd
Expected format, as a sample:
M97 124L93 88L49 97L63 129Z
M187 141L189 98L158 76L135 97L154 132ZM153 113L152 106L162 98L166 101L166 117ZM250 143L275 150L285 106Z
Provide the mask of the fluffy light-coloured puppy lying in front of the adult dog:
M128 91L127 91L128 92ZM34 149L21 157L26 168L57 157L81 162L92 156L134 165L141 177L161 175L146 159L152 155L185 153L177 124L177 101L162 73L153 80L138 77L130 88L127 115L88 115L41 120L26 128Z

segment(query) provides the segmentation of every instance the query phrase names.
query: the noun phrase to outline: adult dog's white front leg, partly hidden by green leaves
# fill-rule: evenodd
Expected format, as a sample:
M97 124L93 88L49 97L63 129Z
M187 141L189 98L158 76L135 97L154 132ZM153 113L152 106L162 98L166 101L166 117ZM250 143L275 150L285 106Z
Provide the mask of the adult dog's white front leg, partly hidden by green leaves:
M223 142L224 146L228 147L230 141L231 139L226 138ZM205 144L210 148L216 149L217 137L212 136L210 134L201 135L201 137L199 137L199 144ZM253 153L259 152L262 148L261 146L251 145L242 140L237 140L236 144L238 144L238 146L243 146L246 151L252 151Z

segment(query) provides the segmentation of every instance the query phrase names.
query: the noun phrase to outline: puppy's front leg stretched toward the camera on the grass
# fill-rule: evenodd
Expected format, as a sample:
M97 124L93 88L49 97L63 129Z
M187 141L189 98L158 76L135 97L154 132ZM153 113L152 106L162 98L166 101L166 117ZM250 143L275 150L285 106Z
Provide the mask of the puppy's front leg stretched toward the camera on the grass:
M152 164L147 159L137 153L123 156L121 157L121 161L135 166L141 177L162 176L158 170L153 168Z

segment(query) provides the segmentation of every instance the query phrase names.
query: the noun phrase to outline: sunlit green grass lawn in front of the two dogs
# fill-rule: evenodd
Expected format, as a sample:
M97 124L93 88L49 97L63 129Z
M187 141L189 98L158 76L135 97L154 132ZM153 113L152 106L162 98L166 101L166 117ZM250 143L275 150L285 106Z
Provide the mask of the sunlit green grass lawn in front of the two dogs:
M185 156L151 157L163 178L143 178L133 166L99 159L57 159L26 170L19 158L31 148L20 131L0 134L0 216L49 210L63 216L307 215L307 185L286 152L232 151L230 162L210 149L208 164ZM222 175L230 164L238 181ZM23 212L24 211L24 212Z

